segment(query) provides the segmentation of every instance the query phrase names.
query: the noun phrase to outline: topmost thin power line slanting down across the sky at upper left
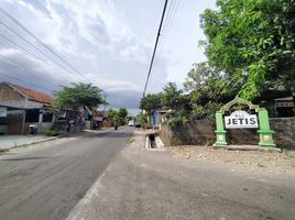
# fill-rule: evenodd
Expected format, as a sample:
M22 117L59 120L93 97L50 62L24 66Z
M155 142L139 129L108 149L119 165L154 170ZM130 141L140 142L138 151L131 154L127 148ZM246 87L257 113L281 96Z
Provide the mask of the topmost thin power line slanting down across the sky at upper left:
M47 46L43 41L41 41L36 35L34 35L30 30L28 30L23 24L21 24L17 19L14 19L9 12L7 12L4 9L0 7L0 12L2 12L7 18L9 18L11 21L13 21L18 26L20 26L24 32L26 32L30 36L32 36L34 40L36 40L43 47L45 47L47 51L50 51L53 55L55 55L59 61L65 63L72 70L74 70L76 74L78 74L80 77L89 81L81 73L77 70L73 65L70 65L66 59L64 59L61 55L58 55L56 52L54 52L50 46ZM56 63L56 62L55 62ZM59 65L58 65L59 66Z

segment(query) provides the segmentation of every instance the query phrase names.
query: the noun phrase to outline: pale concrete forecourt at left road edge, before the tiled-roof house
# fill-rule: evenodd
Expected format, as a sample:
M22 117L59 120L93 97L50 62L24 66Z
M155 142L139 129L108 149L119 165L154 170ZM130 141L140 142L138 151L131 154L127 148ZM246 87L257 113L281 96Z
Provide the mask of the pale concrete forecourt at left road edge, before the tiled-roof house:
M0 135L0 151L12 147L55 140L57 136L46 135Z

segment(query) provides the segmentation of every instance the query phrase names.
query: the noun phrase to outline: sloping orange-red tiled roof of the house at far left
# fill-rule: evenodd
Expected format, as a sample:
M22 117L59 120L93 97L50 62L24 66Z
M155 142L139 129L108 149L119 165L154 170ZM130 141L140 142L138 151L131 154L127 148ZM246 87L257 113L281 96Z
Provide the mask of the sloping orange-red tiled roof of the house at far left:
M48 95L43 94L41 91L35 91L33 89L21 87L21 86L15 85L15 84L9 84L9 85L11 87L15 88L18 91L20 91L21 94L23 94L24 96L26 96L29 99L31 99L33 101L37 101L37 102L42 102L42 103L47 103L47 105L52 105L53 103L53 97L52 96L48 96Z

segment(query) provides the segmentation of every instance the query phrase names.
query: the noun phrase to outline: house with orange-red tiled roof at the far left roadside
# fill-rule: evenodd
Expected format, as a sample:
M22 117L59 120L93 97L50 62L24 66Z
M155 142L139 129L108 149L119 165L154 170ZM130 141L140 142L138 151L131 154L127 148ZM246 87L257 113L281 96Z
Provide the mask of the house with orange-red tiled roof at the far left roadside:
M50 128L53 114L48 111L53 98L7 81L0 82L0 133L40 133Z

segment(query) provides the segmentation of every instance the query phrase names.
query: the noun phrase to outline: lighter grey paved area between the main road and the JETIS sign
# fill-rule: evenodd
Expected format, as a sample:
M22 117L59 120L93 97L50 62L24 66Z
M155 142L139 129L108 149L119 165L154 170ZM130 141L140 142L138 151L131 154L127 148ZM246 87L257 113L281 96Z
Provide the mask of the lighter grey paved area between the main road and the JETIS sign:
M294 220L295 173L242 172L133 142L67 220Z

